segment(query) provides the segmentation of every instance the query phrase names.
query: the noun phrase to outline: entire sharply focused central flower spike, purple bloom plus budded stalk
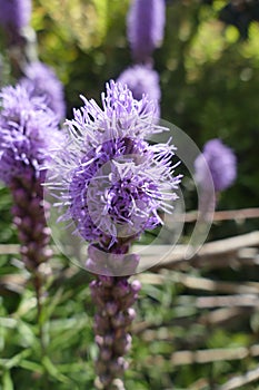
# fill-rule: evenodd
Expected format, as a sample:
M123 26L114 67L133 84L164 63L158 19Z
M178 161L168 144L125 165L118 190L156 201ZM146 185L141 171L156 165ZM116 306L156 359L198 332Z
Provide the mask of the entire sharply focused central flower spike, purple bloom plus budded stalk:
M50 164L49 188L59 198L61 221L71 221L88 241L87 269L97 273L90 284L97 305L93 330L99 347L98 389L124 389L129 326L140 283L129 282L139 256L133 240L162 224L158 211L172 209L180 176L173 176L173 150L145 138L167 130L157 125L156 105L147 95L133 98L127 85L110 81L102 107L82 97L84 106L68 120L67 144Z

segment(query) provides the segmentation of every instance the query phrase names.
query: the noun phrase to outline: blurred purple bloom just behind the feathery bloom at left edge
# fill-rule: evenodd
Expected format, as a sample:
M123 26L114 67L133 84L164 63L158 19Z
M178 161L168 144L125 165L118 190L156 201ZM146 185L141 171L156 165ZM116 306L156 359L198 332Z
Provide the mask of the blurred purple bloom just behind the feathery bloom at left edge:
M31 89L34 96L46 96L48 106L59 119L64 118L66 104L63 86L54 71L47 65L36 61L27 66L21 84Z

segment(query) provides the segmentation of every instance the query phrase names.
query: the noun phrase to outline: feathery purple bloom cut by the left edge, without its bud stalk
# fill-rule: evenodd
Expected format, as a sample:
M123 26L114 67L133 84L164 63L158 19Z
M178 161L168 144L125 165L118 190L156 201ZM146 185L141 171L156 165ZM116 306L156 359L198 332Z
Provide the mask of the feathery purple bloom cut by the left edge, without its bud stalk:
M0 179L40 176L48 150L61 138L56 115L22 87L0 91Z

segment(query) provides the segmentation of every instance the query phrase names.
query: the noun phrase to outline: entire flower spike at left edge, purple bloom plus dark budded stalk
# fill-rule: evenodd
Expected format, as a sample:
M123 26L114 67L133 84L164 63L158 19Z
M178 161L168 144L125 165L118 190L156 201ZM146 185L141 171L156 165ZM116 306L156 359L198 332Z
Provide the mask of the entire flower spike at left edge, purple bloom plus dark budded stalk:
M51 255L41 184L46 174L43 164L61 135L52 110L24 87L3 88L0 107L0 179L13 196L13 222L22 244L23 262L34 271Z

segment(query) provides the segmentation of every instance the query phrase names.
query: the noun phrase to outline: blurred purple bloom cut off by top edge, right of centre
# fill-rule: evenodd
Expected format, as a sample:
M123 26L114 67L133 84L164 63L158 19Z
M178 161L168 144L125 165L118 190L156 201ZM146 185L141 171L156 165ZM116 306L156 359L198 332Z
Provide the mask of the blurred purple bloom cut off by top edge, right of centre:
M163 39L165 0L132 0L127 19L132 56L138 62L147 62Z

